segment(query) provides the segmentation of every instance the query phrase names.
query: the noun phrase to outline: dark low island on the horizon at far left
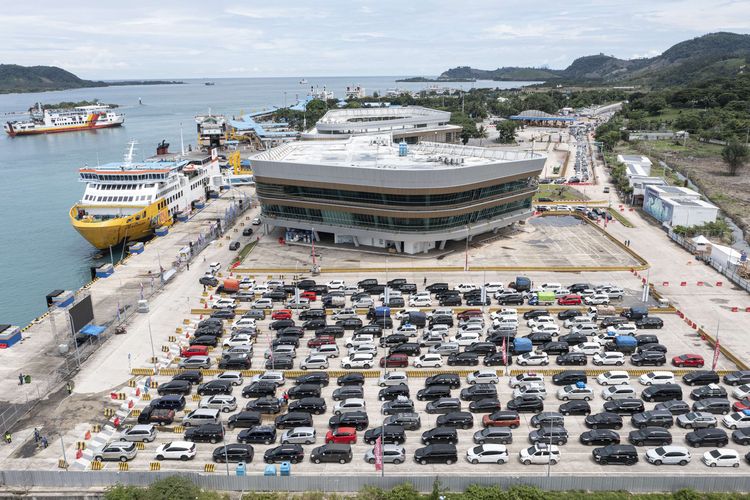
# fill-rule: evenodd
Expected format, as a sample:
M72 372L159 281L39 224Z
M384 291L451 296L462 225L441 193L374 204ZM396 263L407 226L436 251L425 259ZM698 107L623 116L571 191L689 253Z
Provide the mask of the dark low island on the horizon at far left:
M88 87L119 85L174 85L184 82L171 80L124 80L102 82L78 78L70 71L57 66L20 66L0 64L0 94L21 92L47 92Z

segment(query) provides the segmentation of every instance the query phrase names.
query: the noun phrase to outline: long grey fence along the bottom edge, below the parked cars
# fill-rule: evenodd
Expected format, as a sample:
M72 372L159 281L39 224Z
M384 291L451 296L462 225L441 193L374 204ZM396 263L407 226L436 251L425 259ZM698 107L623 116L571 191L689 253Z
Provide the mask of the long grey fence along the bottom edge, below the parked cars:
M357 492L365 486L390 489L404 483L412 484L422 492L431 491L435 480L441 488L449 491L464 491L471 485L499 486L509 488L516 485L536 486L552 491L630 491L654 492L677 491L691 488L706 492L728 492L750 490L748 475L667 475L667 474L622 474L622 475L488 475L448 476L399 475L373 476L225 476L218 473L201 474L185 472L113 472L113 471L0 471L0 484L22 488L86 488L110 486L117 483L132 486L148 486L154 481L179 475L193 481L201 488L218 491L280 491L280 492Z

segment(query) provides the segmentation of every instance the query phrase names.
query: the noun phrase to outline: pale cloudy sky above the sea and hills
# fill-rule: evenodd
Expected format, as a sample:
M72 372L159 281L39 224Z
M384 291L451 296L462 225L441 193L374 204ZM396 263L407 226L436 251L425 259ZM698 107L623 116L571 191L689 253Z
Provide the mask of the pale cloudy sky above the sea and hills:
M650 57L748 20L748 0L34 0L0 16L0 62L90 79L434 76Z

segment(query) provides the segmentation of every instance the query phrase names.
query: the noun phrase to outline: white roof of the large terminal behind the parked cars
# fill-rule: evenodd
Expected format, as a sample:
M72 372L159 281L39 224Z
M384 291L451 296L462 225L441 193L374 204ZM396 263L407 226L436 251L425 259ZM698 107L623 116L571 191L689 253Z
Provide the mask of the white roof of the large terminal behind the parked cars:
M406 146L406 145L404 145ZM347 140L292 142L266 151L255 160L372 169L450 169L543 158L527 151L504 151L423 142L407 146L399 155L399 144L390 135L355 136Z

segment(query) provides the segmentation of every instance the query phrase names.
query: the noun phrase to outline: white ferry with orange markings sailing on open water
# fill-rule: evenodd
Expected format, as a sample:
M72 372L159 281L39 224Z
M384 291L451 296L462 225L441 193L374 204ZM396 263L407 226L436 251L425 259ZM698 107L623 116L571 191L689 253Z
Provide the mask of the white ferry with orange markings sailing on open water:
M31 111L31 119L9 121L3 128L11 137L17 135L53 134L76 130L119 127L125 115L106 105L78 106L72 109L42 109Z

